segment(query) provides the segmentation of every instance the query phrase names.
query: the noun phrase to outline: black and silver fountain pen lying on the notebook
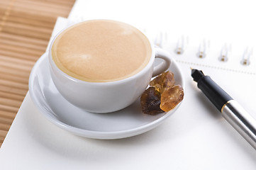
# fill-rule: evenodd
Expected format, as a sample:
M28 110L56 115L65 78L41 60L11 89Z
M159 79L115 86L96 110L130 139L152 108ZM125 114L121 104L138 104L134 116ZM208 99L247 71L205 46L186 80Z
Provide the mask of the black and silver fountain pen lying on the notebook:
M228 123L256 149L256 120L252 115L201 70L191 69L191 77Z

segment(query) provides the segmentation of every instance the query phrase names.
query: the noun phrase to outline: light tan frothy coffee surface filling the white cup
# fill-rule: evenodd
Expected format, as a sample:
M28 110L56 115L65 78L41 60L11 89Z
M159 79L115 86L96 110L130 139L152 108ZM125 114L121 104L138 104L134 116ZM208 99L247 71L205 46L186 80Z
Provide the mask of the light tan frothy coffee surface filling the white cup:
M90 82L126 79L149 62L148 38L126 23L94 20L78 23L57 36L52 60L62 72Z

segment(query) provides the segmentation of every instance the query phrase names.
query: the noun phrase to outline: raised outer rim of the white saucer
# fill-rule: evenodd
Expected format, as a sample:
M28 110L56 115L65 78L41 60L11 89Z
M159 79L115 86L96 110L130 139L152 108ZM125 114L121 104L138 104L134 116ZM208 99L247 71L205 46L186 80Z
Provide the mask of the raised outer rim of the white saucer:
M118 131L108 131L108 132L106 132L106 131L96 131L96 130L86 130L86 129L76 128L72 125L68 125L68 124L62 122L61 120L58 120L57 118L55 118L52 115L52 113L56 114L55 112L53 112L53 111L50 112L50 111L47 111L45 108L43 108L43 106L38 101L38 97L35 96L35 94L33 92L34 91L33 81L34 81L34 79L37 75L36 71L38 70L38 67L40 66L40 64L42 64L42 62L44 60L47 60L47 58L48 58L48 52L45 52L38 59L38 61L35 63L33 69L30 72L30 77L29 77L29 81L28 81L30 97L31 97L33 103L35 104L35 106L37 106L37 108L40 110L40 113L43 114L45 116L45 118L50 120L51 123L57 125L59 128L65 129L69 132L72 132L75 135L79 135L79 136L82 136L82 137L89 137L89 138L93 138L93 139L101 139L101 140L114 140L114 139L121 139L121 138L125 138L125 137L132 137L132 136L135 136L135 135L140 135L143 132L148 132L149 130L152 130L153 128L156 128L158 125L160 125L160 123L162 123L164 120L169 118L170 115L172 115L175 111L177 111L177 108L179 108L179 106L182 104L182 102L179 103L178 106L176 106L172 111L169 111L167 113L162 113L164 115L162 115L157 120L154 120L154 121L152 121L148 124L141 125L141 126L136 127L136 128L131 128L131 129L128 129L128 130L118 130ZM177 69L179 69L179 66L177 65L177 63L174 60L172 60L172 62L174 62ZM179 72L180 72L181 78L182 78L182 80L181 80L182 83L183 83L182 87L184 88L184 86L185 86L184 77L182 76L182 72L181 72L180 69L179 69ZM50 77L50 75L49 75L49 77ZM49 79L51 79L51 78L49 78ZM101 113L101 114L108 114L108 113Z

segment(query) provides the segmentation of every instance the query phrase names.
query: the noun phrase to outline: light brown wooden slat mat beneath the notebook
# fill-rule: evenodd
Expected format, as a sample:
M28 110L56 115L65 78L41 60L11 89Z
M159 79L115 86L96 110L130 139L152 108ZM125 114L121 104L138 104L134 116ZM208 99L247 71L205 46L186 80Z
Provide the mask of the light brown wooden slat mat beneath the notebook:
M75 0L0 0L0 147L28 91L58 16Z

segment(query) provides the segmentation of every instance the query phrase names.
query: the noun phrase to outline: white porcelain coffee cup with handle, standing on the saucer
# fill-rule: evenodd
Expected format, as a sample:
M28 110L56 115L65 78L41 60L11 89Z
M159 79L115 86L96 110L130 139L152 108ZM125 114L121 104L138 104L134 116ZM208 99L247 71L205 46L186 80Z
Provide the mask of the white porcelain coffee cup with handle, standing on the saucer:
M62 31L60 33L62 33ZM60 35L60 33L58 35ZM131 103L136 101L136 99L143 94L150 79L165 72L171 65L169 52L154 47L150 39L144 34L150 43L151 57L148 64L140 72L118 81L83 81L62 72L52 60L52 44L58 35L52 40L48 55L52 81L60 94L69 101L69 103L85 111L109 113L130 106ZM155 58L160 58L164 60L164 62L154 67Z

